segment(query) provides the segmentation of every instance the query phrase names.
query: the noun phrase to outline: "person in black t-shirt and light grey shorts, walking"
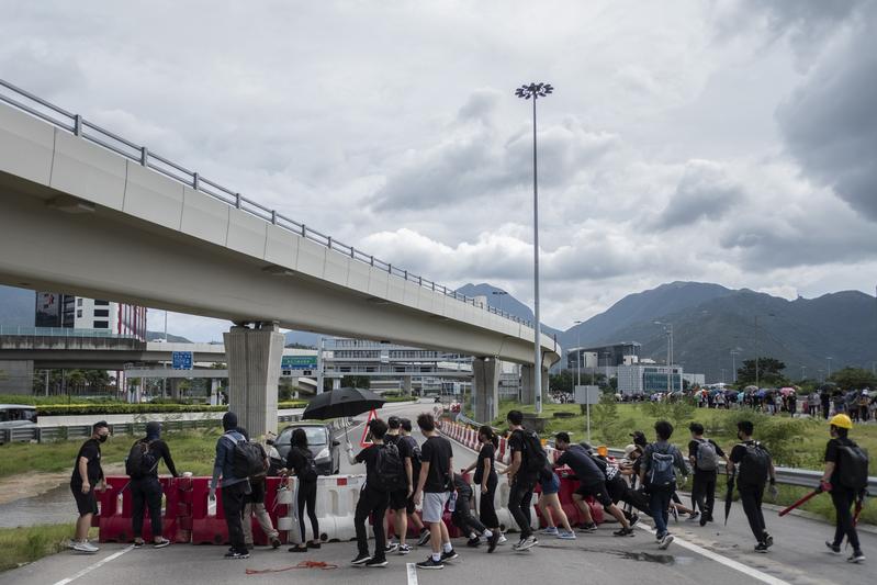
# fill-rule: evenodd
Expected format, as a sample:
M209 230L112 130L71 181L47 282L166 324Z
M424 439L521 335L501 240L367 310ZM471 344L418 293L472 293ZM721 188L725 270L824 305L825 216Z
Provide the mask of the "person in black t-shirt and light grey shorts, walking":
M426 442L420 448L420 476L414 491L414 503L423 503L424 522L429 525L432 549L432 554L417 563L417 569L443 569L447 561L459 556L451 545L448 527L441 521L453 491L453 447L451 441L438 434L431 414L420 414L417 426L426 437Z

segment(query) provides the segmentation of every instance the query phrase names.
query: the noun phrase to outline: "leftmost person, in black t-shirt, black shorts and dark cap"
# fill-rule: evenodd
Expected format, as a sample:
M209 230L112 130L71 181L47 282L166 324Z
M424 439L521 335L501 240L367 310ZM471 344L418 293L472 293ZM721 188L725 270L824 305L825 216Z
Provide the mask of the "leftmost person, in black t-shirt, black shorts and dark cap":
M88 529L91 517L98 514L98 499L94 491L102 492L106 487L101 468L101 443L110 437L110 426L100 420L91 426L91 438L82 443L76 455L74 472L70 475L70 492L76 499L79 518L76 520L76 537L72 549L93 554L100 549L88 541Z

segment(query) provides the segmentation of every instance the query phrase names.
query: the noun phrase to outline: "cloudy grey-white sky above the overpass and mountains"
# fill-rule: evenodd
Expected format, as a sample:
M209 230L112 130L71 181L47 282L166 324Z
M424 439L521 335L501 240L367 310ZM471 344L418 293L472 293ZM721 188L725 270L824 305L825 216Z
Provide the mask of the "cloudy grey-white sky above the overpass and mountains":
M551 82L555 327L673 280L874 293L877 0L0 7L0 77L394 265L525 302L532 121L514 89Z

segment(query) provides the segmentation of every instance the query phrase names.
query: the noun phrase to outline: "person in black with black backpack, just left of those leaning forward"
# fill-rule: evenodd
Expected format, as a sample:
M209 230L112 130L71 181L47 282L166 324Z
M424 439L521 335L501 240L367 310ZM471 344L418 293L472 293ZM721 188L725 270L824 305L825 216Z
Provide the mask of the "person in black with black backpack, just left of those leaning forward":
M506 468L509 485L508 510L520 529L520 541L511 548L526 551L539 544L530 527L530 503L548 457L539 436L524 428L524 414L520 410L509 410L506 420L511 431L508 438L511 463Z

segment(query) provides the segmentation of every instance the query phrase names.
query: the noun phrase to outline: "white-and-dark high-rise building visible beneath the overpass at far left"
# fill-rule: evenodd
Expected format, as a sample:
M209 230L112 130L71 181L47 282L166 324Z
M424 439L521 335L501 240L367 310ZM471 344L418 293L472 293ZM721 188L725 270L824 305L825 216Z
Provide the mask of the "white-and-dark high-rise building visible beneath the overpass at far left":
M37 327L91 329L146 340L146 307L54 292L36 293Z

